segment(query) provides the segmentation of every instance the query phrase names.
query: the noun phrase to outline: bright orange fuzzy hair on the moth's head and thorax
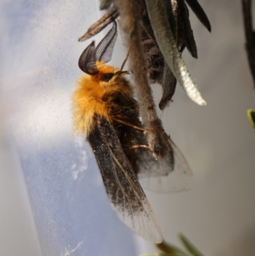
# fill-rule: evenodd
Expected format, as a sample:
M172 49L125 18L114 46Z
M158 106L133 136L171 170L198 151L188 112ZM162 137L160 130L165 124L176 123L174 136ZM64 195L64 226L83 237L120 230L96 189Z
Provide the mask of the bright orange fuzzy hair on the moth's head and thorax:
M117 94L122 94L127 98L133 95L133 89L124 77L119 79L117 75L113 76L110 86L109 82L103 80L106 74L117 73L117 68L108 66L102 61L97 61L96 66L99 73L97 75L82 75L77 82L78 89L73 95L75 132L82 132L86 135L94 129L95 114L104 116L112 123L112 109L117 107L113 103L113 98Z

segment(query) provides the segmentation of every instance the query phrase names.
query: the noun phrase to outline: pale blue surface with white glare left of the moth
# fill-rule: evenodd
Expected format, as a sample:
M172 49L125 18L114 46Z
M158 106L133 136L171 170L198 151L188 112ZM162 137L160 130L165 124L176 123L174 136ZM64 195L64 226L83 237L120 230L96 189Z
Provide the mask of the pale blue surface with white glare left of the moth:
M20 158L43 256L135 255L98 166L73 137L71 93L82 73L78 36L98 19L94 1L1 3L1 102ZM68 254L69 255L69 254Z

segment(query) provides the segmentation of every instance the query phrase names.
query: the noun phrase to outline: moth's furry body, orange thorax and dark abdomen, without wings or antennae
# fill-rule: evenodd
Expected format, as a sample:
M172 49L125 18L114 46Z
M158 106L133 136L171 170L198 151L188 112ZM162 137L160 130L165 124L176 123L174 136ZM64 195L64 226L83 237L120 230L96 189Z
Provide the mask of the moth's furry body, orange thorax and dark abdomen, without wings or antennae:
M73 94L73 124L75 133L94 132L98 117L104 117L115 128L124 153L135 174L138 173L135 150L147 144L139 118L138 104L133 97L133 86L119 73L119 69L97 61L97 75L82 75ZM110 75L108 81L105 77ZM139 141L137 140L139 138ZM142 145L147 147L149 146Z

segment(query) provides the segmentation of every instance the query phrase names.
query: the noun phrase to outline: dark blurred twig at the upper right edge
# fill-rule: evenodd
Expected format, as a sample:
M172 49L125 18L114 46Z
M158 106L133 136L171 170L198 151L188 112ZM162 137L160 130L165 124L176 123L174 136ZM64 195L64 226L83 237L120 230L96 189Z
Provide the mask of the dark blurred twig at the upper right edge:
M252 73L252 78L255 87L255 44L254 44L254 30L252 27L252 8L251 0L242 0L243 15L244 15L244 27L245 27L245 48L249 60L249 65Z

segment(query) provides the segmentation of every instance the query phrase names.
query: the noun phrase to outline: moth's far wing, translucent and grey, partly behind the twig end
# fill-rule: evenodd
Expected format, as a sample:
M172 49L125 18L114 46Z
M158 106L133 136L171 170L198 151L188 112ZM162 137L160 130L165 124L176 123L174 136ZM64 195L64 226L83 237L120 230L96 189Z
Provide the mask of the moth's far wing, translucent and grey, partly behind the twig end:
M156 192L178 192L189 189L186 176L191 176L184 154L168 140L171 151L163 159L155 160L150 151L138 149L138 178L143 188Z

